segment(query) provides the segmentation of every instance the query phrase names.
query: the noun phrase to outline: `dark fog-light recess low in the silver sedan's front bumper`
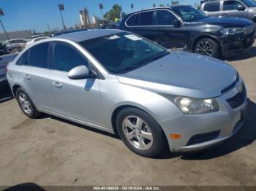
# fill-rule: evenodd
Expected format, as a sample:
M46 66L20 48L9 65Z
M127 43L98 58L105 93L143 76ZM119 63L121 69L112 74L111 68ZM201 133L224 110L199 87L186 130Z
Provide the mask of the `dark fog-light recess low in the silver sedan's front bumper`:
M187 142L187 146L192 144L200 144L206 141L216 139L219 136L219 132L220 130L216 130L210 133L203 133L192 136L192 138L190 138L189 141Z

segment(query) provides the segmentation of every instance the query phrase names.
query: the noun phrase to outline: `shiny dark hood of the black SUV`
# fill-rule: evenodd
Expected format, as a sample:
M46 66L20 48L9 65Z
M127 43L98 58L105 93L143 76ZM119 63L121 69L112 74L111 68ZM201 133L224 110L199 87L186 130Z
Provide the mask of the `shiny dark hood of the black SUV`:
M206 23L224 27L244 27L251 25L252 21L241 17L206 17L195 23Z

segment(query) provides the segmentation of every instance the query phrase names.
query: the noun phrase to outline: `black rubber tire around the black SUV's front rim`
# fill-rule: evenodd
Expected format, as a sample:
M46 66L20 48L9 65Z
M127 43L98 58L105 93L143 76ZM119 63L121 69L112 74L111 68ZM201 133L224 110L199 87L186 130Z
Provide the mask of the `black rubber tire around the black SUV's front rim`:
M206 52L201 52L200 50L198 50L198 49L200 49L200 44L205 43L205 42L211 45L211 48L212 48L211 55L208 55ZM197 54L201 54L201 55L208 55L213 58L219 58L221 55L219 44L216 41L214 41L213 39L208 39L208 38L199 39L197 41L197 43L195 44L194 52Z

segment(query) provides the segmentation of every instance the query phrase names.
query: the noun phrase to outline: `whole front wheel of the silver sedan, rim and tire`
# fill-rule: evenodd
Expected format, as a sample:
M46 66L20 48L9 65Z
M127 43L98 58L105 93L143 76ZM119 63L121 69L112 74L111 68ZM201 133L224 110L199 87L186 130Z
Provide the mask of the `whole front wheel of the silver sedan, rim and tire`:
M165 149L165 134L151 115L137 108L122 109L116 117L118 135L124 144L144 157L155 157Z

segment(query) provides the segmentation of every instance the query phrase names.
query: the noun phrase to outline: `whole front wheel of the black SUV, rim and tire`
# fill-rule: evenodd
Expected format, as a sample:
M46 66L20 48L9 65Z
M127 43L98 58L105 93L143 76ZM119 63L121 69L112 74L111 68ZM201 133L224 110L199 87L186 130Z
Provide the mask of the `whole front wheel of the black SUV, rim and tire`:
M219 58L219 44L212 39L200 39L195 44L194 52L200 55L208 55Z

